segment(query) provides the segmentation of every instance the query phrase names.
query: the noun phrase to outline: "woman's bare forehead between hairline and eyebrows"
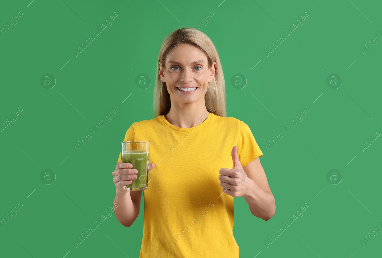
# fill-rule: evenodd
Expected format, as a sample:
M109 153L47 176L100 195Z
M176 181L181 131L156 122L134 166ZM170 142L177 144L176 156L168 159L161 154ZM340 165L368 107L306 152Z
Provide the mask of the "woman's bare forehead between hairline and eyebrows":
M168 53L166 61L168 64L193 65L195 63L207 62L207 56L202 50L190 44L180 44Z

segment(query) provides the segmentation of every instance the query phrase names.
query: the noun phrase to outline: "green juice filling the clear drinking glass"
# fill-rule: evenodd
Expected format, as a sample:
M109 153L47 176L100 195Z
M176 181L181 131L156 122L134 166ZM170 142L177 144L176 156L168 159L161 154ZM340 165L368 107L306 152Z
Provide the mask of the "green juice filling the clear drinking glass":
M133 179L133 182L129 185L127 190L146 190L147 178L149 172L149 158L150 153L147 151L126 151L121 153L122 162L127 162L133 165L132 169L138 170L137 179ZM131 189L135 188L135 189Z

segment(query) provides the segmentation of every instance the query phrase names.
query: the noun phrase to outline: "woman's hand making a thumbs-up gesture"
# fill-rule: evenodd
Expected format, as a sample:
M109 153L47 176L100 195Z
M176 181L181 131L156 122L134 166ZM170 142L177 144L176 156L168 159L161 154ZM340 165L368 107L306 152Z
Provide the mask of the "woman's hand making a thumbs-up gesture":
M240 164L237 154L238 146L233 146L231 151L232 169L222 168L219 170L220 186L223 187L223 192L232 197L240 197L251 190L249 181L243 167Z

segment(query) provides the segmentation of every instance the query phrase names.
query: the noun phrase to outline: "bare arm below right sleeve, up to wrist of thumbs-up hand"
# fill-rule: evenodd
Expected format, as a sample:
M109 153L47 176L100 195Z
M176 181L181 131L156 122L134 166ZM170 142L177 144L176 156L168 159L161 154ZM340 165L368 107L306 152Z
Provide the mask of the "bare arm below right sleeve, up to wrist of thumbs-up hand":
M251 213L267 221L276 213L276 204L268 185L267 176L261 166L260 157L249 162L247 166L243 167L243 170L249 183L249 191L243 197L248 203Z

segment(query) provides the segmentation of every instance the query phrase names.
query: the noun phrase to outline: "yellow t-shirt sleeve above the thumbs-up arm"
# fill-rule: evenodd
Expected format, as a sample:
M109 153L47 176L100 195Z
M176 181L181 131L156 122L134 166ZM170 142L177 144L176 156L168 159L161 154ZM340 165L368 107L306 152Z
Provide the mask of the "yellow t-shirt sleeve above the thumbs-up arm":
M263 156L263 153L257 145L256 140L251 132L251 129L243 121L239 122L238 132L238 157L241 166L245 167L249 162L257 157Z

